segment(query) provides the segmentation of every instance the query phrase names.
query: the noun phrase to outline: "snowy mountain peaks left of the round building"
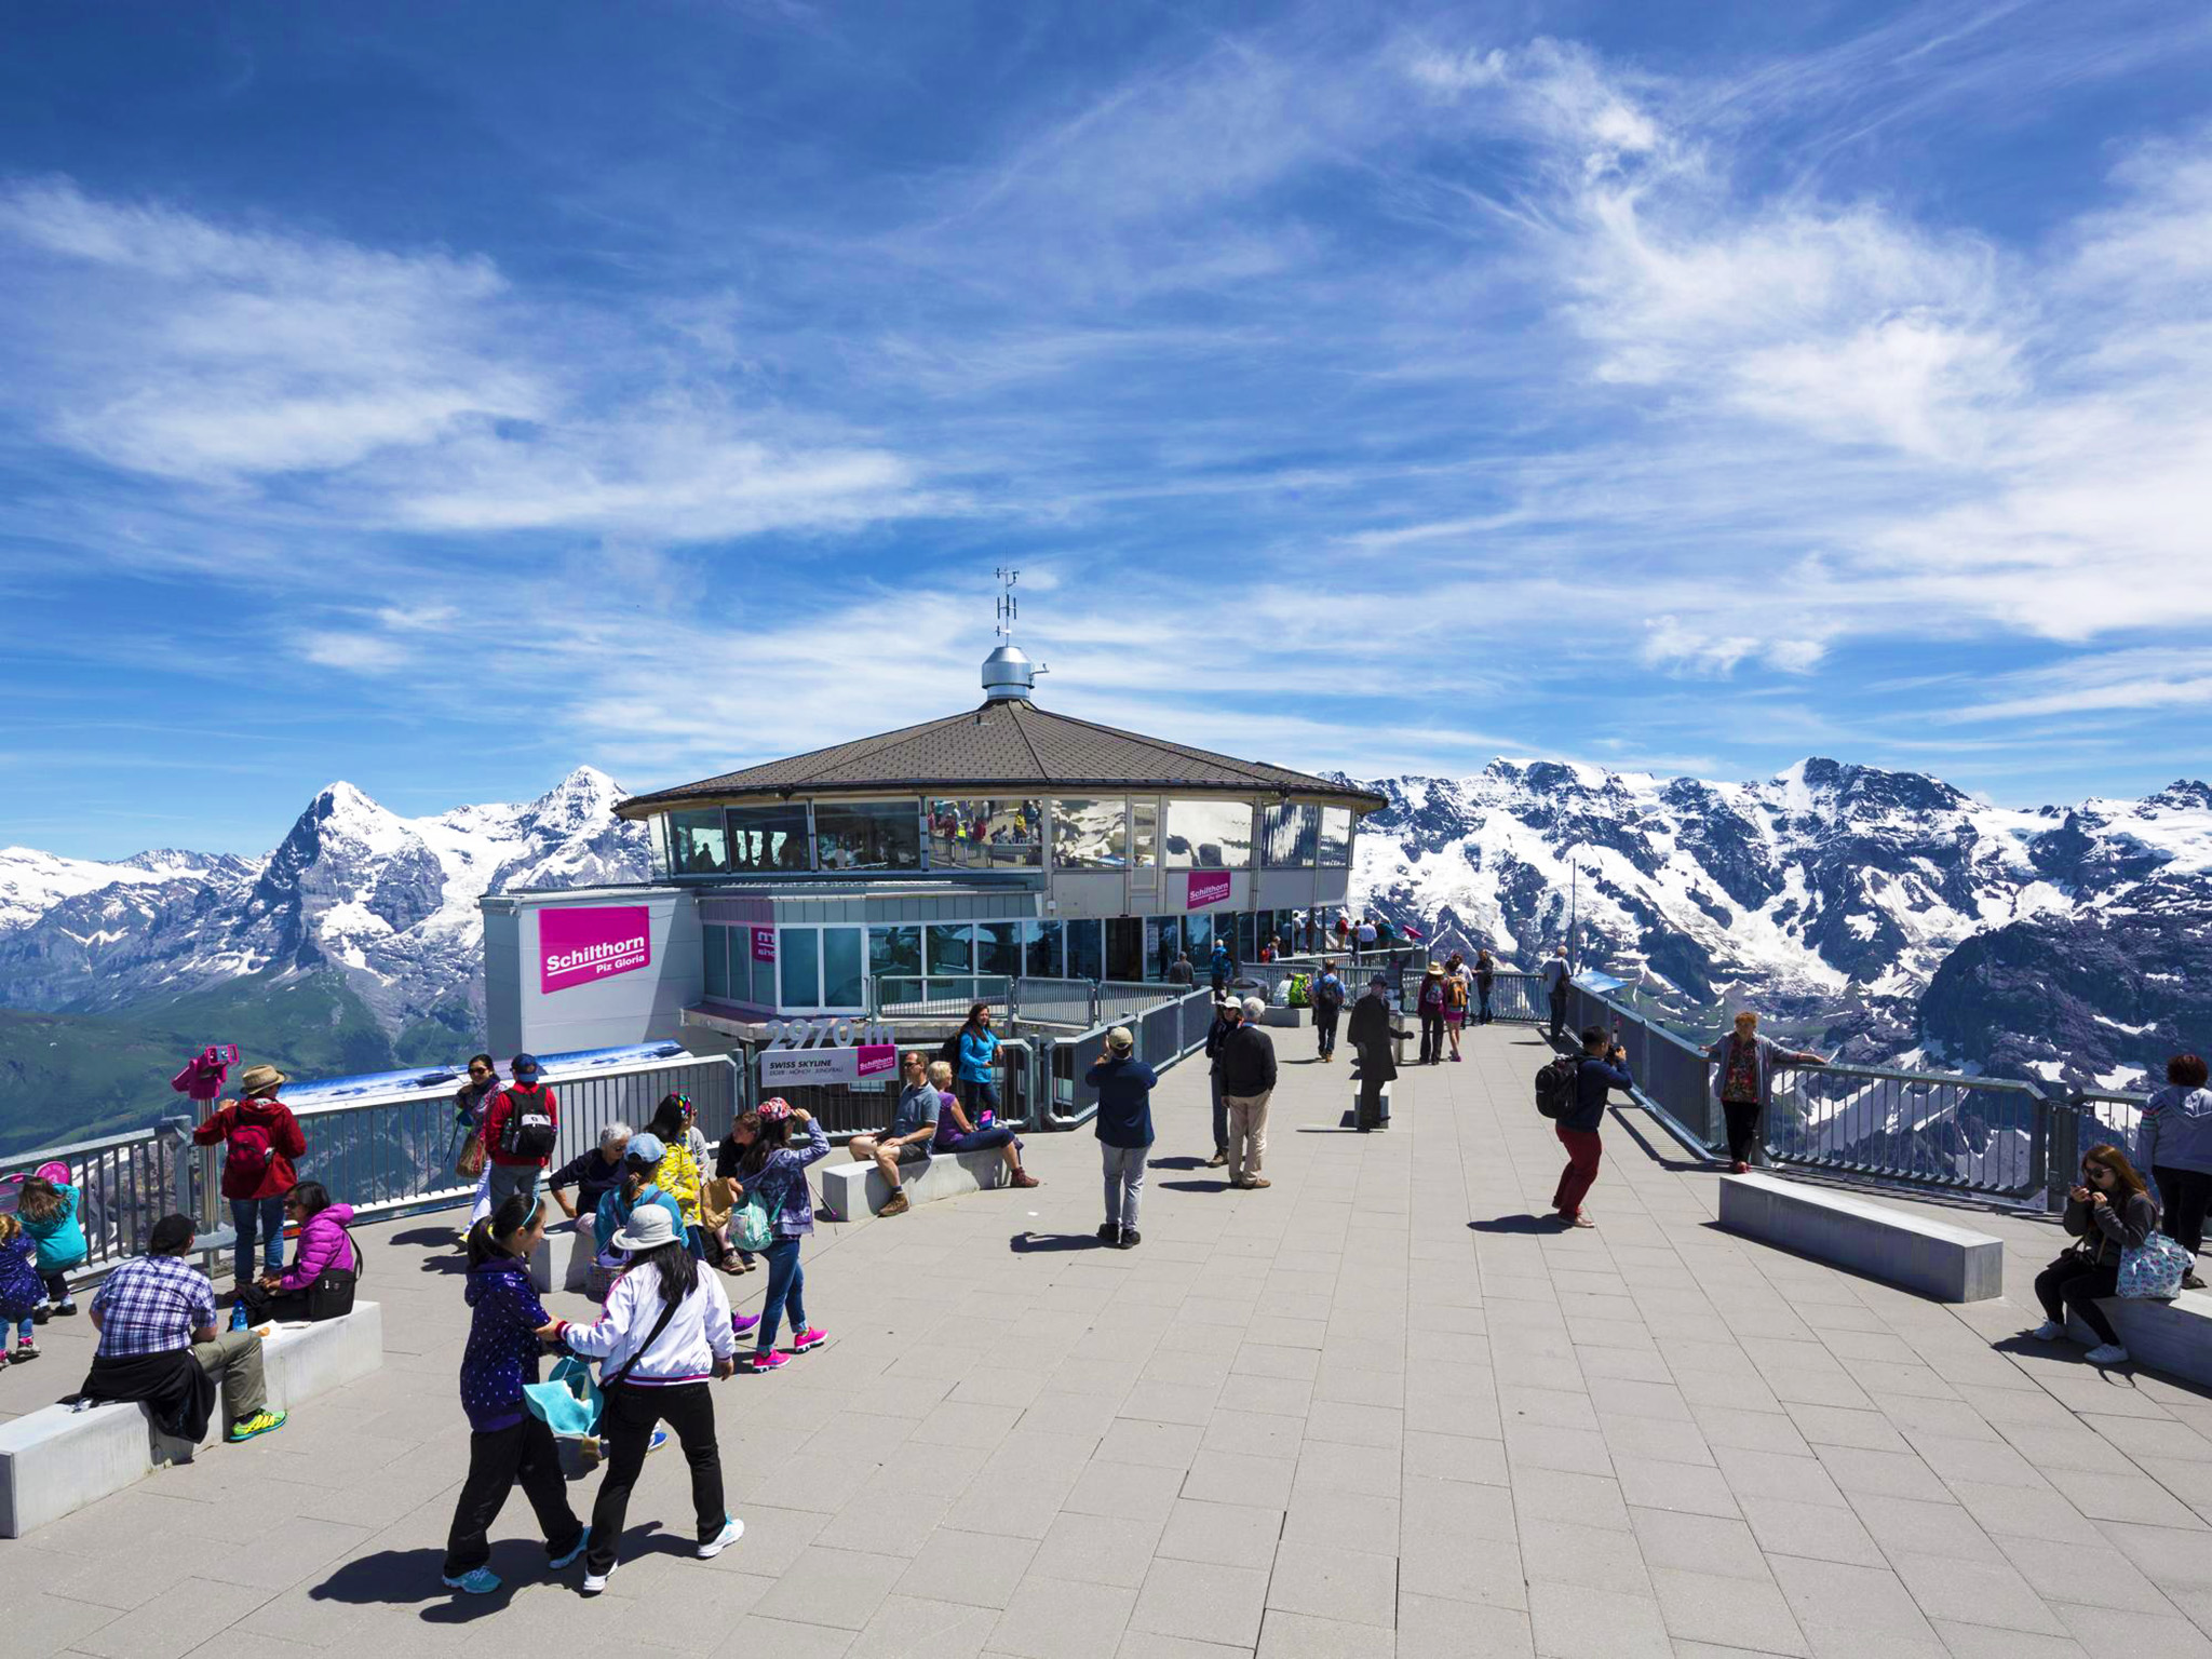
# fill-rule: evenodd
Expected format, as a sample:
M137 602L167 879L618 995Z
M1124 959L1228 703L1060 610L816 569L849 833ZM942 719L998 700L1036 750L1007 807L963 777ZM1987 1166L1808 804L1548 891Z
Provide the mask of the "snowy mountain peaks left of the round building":
M577 768L535 801L403 818L332 783L259 860L24 854L22 909L53 898L0 920L0 1006L111 1013L248 973L330 969L389 1031L453 1020L480 998L478 898L648 874L646 832L613 816L619 799L604 772Z

